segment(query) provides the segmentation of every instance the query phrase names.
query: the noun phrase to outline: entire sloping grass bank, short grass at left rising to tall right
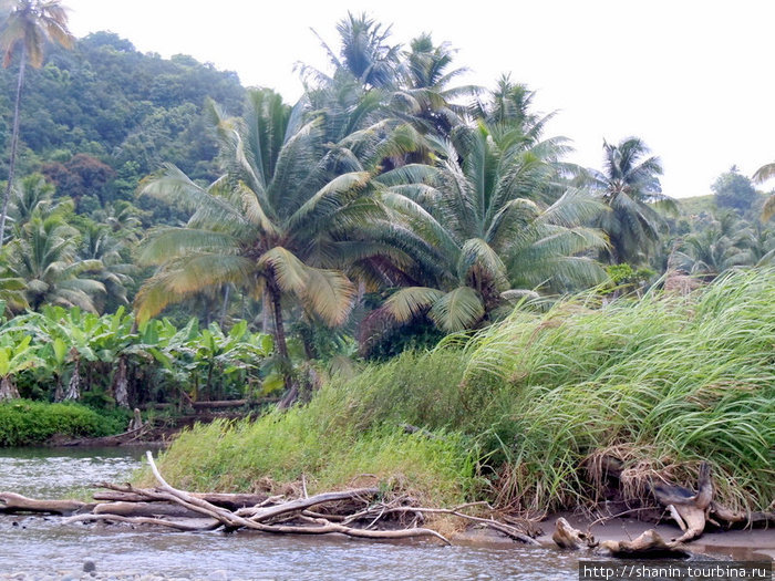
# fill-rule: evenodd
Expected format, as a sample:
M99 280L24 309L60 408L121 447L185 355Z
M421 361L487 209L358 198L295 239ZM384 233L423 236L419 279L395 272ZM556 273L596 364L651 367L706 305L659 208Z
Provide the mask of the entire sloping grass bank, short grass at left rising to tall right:
M197 489L371 478L438 504L545 510L601 499L603 459L622 464L633 500L659 478L692 484L705 460L731 507L769 505L775 272L733 273L689 298L597 300L517 310L473 338L334 377L286 414L195 427L162 470Z

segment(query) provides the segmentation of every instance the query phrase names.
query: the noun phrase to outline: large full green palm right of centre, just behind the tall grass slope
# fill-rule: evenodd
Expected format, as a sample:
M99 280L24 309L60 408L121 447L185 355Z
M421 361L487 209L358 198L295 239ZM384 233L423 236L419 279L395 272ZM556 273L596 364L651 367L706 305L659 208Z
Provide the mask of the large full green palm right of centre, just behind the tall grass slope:
M378 178L381 196L402 222L384 238L417 264L413 284L394 292L383 309L397 322L427 313L443 331L459 331L497 317L533 287L570 280L599 282L600 267L579 257L604 241L578 227L600 204L570 189L551 206L530 199L558 156L552 141L525 139L521 127L456 127L440 143L436 167L409 165ZM561 148L560 148L561 149Z

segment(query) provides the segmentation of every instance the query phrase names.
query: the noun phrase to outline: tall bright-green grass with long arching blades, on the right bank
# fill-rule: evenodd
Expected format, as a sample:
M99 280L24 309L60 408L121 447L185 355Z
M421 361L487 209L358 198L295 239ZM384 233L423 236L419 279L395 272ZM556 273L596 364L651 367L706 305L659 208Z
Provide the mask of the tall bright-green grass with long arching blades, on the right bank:
M733 506L775 492L775 273L728 274L698 297L651 294L602 309L579 300L516 312L466 347L464 384L504 414L504 501L569 506L600 492L601 455L626 492L715 468ZM493 406L490 406L493 407ZM580 469L585 467L586 469Z

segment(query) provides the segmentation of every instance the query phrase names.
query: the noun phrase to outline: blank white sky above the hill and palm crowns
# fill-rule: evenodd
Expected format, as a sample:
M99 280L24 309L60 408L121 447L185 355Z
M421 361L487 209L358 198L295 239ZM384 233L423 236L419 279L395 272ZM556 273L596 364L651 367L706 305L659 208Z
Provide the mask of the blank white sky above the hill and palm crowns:
M736 164L775 160L773 0L63 0L78 37L110 30L140 51L190 54L237 71L245 85L301 93L293 63L326 66L310 28L337 46L335 22L366 11L393 41L431 32L458 49L464 80L503 72L558 110L548 135L574 141L568 160L601 166L602 139L637 135L662 158L665 194L710 194Z

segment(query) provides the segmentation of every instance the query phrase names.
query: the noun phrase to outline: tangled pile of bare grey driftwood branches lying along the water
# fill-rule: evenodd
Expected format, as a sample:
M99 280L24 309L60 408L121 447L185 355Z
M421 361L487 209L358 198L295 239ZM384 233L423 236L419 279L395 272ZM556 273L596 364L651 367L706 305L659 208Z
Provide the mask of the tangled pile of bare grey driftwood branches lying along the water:
M475 506L492 508L485 502L472 502L452 509L405 506L402 497L393 501L379 500L379 488L356 488L302 498L248 494L199 494L172 487L161 475L152 454L148 465L158 484L155 488L103 483L94 494L94 504L78 500L33 500L12 492L0 494L0 511L49 512L74 515L64 522L120 522L134 526L156 526L179 531L252 530L269 533L329 535L366 539L406 539L432 537L445 544L450 541L438 532L420 526L423 515L452 515L477 526L497 530L512 539L535 544L530 536L515 525L464 512ZM378 500L375 500L378 499ZM409 515L411 525L396 523L393 516ZM396 528L399 526L400 528ZM390 528L389 528L390 527Z

